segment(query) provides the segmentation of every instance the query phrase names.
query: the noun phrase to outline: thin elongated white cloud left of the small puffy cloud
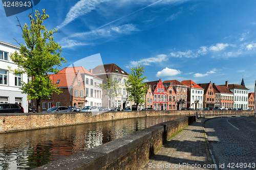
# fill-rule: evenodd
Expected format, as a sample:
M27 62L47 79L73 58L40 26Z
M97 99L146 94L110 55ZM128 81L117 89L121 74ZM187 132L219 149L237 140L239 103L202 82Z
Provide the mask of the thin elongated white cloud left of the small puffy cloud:
M168 60L167 55L160 54L157 57L144 58L139 61L130 61L130 66L126 66L126 67L136 67L138 64L150 65L151 63L159 63L167 60Z

